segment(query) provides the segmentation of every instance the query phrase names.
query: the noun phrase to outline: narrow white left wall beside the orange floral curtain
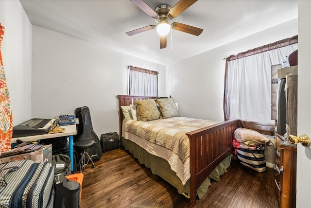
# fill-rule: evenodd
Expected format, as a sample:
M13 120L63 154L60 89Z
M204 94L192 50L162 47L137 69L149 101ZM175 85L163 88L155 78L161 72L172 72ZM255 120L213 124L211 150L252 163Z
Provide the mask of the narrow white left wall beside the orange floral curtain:
M13 126L31 118L31 23L18 0L0 0L2 58Z

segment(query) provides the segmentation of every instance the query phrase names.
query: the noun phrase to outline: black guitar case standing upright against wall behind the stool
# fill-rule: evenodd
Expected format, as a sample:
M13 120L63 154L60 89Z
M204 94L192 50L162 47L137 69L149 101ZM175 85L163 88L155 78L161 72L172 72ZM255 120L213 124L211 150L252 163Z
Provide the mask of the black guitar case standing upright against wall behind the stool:
M98 136L93 131L91 115L90 115L88 107L87 106L81 107L80 112L81 112L81 120L82 121L79 120L79 123L82 123L83 131L82 131L82 134L77 138L76 141L82 141L82 140L87 140L87 139L93 139L95 141L94 146L86 149L86 152L92 158L93 162L95 162L95 161L99 160L103 154L102 146L101 146L101 143L98 139ZM77 126L77 128L79 128L79 126ZM77 129L77 134L78 134L78 130L79 129Z

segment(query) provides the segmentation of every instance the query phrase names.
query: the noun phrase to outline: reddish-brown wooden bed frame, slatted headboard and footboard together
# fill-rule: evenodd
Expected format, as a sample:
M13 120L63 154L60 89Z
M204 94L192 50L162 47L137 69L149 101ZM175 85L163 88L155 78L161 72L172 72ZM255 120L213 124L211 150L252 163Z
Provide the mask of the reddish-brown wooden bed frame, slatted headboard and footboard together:
M156 97L118 95L117 98L119 99L121 139L124 119L121 106L133 104L136 100L155 99ZM190 140L190 206L196 204L196 190L207 176L221 161L233 154L233 133L237 128L238 120L228 120L186 133Z

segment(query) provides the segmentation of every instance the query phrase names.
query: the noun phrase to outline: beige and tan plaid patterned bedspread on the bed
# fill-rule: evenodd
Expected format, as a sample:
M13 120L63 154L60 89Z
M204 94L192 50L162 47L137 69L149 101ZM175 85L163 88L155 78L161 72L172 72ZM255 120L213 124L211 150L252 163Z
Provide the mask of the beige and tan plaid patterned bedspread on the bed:
M165 151L148 152L166 159L171 165L171 169L185 184L190 178L190 148L187 132L213 125L217 122L191 119L186 117L172 117L169 119L159 119L155 121L134 121L124 122L124 138L132 140L128 135L136 135L141 141L136 139L136 143L142 148L157 148L160 146ZM130 134L127 134L130 133ZM151 142L153 145L149 145ZM159 149L159 148L157 148Z

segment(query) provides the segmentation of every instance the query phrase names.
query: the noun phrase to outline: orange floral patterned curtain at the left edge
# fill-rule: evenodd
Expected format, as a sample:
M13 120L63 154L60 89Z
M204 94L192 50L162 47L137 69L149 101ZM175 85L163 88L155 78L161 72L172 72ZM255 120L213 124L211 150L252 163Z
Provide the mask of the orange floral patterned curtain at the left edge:
M0 154L11 150L11 139L13 133L13 120L9 89L6 84L1 45L4 35L4 27L0 23Z

